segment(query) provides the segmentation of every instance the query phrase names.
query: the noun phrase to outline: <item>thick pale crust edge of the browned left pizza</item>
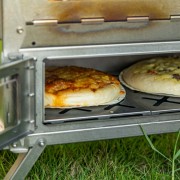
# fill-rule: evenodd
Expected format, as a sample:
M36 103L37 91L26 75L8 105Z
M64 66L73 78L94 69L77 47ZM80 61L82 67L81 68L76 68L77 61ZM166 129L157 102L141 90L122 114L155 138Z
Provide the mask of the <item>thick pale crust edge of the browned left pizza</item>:
M120 96L121 85L110 84L95 91L91 89L64 90L54 95L45 92L45 107L97 106Z

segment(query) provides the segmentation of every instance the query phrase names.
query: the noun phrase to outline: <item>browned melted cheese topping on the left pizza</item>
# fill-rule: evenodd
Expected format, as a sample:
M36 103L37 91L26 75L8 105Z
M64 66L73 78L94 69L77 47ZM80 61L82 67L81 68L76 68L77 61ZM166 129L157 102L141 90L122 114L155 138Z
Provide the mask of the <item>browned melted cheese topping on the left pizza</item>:
M109 74L90 68L65 66L46 70L46 92L56 94L63 90L91 89L96 91L110 84L120 85Z

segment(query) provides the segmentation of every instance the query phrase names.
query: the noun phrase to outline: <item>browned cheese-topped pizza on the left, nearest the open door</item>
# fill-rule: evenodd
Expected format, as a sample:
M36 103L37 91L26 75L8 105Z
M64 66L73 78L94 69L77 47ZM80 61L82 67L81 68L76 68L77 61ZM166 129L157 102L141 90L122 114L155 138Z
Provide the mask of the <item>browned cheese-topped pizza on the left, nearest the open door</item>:
M125 97L119 80L107 73L84 67L47 67L45 107L97 106Z

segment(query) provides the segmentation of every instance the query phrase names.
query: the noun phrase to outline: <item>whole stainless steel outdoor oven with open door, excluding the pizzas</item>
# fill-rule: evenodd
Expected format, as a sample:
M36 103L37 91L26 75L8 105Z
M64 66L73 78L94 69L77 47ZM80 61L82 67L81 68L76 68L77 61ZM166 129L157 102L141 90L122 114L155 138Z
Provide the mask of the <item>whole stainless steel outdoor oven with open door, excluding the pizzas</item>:
M26 176L47 145L177 132L180 98L126 89L114 105L44 108L46 66L119 76L150 57L180 55L179 0L1 0L0 148Z

